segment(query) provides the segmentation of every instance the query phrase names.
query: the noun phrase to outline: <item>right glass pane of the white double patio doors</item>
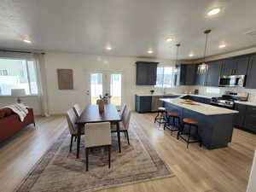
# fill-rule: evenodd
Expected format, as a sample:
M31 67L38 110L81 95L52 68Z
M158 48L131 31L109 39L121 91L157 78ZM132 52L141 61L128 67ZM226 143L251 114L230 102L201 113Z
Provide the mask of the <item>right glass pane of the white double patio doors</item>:
M110 103L116 106L121 105L121 95L122 95L122 75L121 74L111 74L110 78Z

